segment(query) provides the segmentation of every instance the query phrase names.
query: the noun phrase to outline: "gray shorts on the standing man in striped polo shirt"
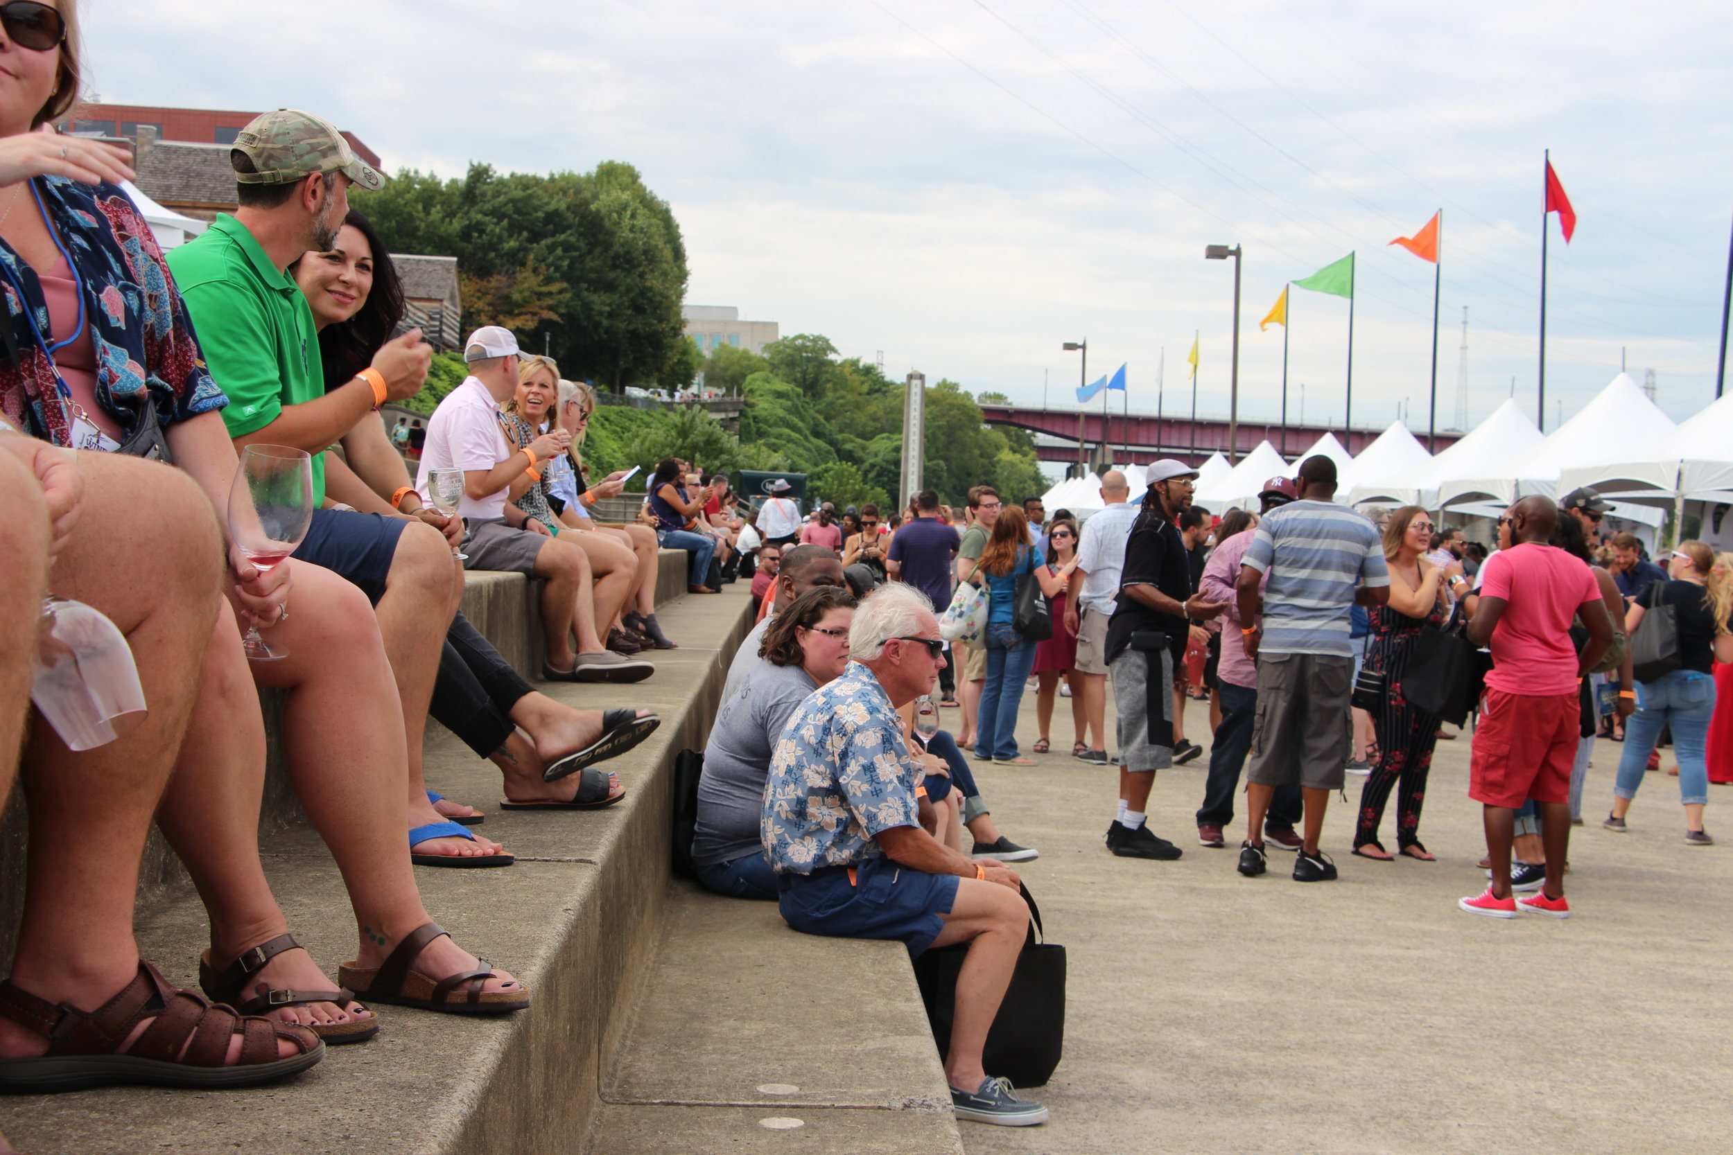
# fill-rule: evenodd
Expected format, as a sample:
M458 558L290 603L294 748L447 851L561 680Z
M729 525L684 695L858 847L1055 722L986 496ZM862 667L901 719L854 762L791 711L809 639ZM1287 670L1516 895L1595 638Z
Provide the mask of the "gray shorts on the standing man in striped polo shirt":
M1341 790L1353 750L1353 658L1258 655L1258 713L1246 781Z

